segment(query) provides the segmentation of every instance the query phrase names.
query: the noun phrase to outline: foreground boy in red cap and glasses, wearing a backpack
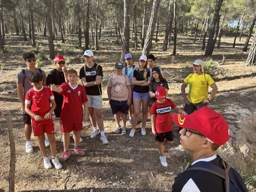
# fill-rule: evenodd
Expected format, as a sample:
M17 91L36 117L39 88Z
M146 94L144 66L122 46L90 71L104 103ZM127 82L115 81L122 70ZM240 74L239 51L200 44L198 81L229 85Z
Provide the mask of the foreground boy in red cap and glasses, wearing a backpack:
M239 191L247 191L238 172L230 168L219 155L215 155L219 146L229 140L229 125L221 114L204 106L190 115L173 114L172 119L177 126L183 127L179 132L180 144L193 158L191 166L176 177L172 191L226 191L224 179L213 172L198 169L205 168L205 164L221 170L225 169L225 165L232 172L229 174L230 180L235 176L236 184L239 183L236 186L243 189ZM216 168L214 170L218 170ZM226 182L229 182L227 180L226 176Z

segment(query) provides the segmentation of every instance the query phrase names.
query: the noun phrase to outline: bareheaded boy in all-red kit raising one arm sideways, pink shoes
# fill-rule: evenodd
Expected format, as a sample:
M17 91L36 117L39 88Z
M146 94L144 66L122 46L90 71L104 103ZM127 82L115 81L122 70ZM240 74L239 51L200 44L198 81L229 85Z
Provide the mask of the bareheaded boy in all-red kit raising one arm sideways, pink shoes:
M84 149L79 147L81 130L83 130L83 118L87 121L88 107L87 94L82 85L77 84L77 72L75 69L67 71L68 83L63 83L60 87L51 85L51 90L63 95L62 112L60 120L62 121L63 132L63 161L67 160L72 154L69 151L69 134L74 133L74 153L84 155ZM83 116L84 105L84 116Z

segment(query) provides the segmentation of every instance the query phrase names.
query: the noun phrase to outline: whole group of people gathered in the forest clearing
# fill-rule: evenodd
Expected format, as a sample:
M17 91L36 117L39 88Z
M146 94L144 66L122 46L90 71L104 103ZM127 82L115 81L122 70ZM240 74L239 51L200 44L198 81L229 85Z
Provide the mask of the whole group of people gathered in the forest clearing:
M62 55L55 57L56 68L46 77L43 70L35 68L34 53L23 54L27 68L18 73L17 91L24 112L26 152L33 151L30 141L33 129L35 137L38 138L46 169L52 167L51 162L56 169L62 168L56 157L53 112L59 118L63 132L63 160L67 160L72 154L69 150L71 132L74 133L74 153L84 155L84 150L79 147L79 141L82 141L80 138L80 131L83 129L82 121L87 121L88 113L93 127L90 138L93 139L99 135L102 144L108 144L102 118L102 66L94 62L93 51L86 50L83 56L85 65L79 71L79 79L82 81L80 85L77 83L77 71L66 69ZM127 133L128 114L129 124L132 125L129 137L134 137L140 111L142 111L141 135L146 135L145 128L149 111L151 130L157 141L160 163L162 166L168 166L164 146L173 143L173 119L174 123L180 127L180 144L183 149L191 153L193 164L203 161L223 168L219 163L221 158L214 152L229 140L229 126L219 113L207 107L207 104L215 97L218 87L212 77L204 73L203 61L195 60L193 73L183 81L181 90L185 107L182 110L167 98L168 82L163 77L160 66L154 65L154 55L141 55L138 65L133 64L133 57L130 53L125 54L124 59L126 66L124 63L117 62L115 74L108 79L107 84L108 100L116 122L114 131ZM185 93L187 85L189 85L188 96ZM209 86L212 88L210 95L208 95ZM171 115L172 109L179 115ZM48 140L44 133L47 134ZM51 162L46 154L48 145L51 148ZM187 189L193 188L192 191L207 191L205 187L209 187L208 183L200 181L203 179L202 174L205 173L198 170L185 171L176 178L173 190L188 191ZM217 176L215 180L217 182ZM224 191L223 182L219 182L219 189L221 190L218 191Z

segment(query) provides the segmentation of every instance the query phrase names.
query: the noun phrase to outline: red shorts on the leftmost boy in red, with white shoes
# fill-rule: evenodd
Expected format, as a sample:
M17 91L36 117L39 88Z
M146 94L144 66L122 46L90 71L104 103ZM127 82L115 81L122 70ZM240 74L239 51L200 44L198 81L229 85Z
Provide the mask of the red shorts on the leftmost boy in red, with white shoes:
M35 121L32 118L32 129L35 137L47 133L49 135L54 135L54 123L52 119L44 119L43 121Z

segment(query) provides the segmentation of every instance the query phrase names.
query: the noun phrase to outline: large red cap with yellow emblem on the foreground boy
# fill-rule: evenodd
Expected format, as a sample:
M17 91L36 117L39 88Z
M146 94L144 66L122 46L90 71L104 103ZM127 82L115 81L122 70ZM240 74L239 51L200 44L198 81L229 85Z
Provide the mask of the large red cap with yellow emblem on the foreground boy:
M229 140L227 121L220 113L206 106L190 115L173 114L172 119L177 126L197 130L218 146L222 146Z

